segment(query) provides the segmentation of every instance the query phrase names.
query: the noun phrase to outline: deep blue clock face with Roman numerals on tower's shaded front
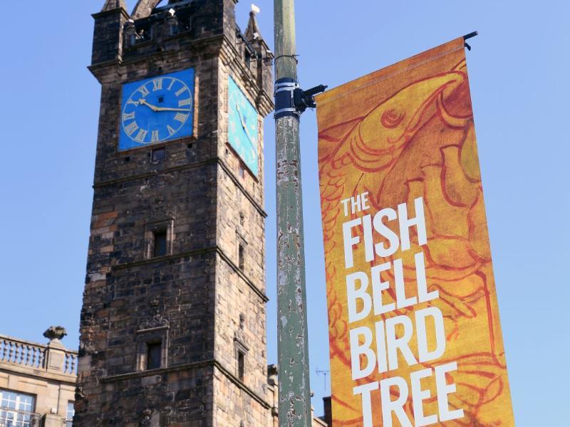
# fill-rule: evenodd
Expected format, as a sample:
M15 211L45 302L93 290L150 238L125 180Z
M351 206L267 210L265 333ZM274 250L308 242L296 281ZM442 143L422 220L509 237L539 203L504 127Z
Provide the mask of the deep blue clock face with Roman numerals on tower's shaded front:
M119 150L194 133L194 69L123 85Z

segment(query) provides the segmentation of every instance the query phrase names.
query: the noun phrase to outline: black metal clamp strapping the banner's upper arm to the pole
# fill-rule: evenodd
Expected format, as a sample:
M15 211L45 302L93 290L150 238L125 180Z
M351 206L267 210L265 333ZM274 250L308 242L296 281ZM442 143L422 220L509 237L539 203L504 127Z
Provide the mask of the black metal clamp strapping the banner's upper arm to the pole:
M316 107L314 96L324 92L328 86L318 85L302 90L299 82L292 78L281 78L275 83L275 118L301 117L307 108Z

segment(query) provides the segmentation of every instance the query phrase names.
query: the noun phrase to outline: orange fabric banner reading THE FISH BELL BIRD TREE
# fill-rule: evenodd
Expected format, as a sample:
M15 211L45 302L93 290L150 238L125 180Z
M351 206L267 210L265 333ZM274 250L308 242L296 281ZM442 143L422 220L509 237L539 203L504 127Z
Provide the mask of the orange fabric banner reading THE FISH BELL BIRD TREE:
M514 426L463 38L317 115L333 426Z

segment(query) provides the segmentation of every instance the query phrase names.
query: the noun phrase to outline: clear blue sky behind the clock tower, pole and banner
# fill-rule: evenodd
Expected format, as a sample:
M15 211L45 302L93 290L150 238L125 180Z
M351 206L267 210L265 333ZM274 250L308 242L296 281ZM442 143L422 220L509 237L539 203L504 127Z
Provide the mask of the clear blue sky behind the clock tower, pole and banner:
M134 1L129 1L133 6ZM273 46L273 2L257 0ZM100 90L90 63L103 0L38 1L0 26L0 333L78 345ZM242 29L250 3L237 6ZM299 76L331 87L471 31L467 53L517 426L563 426L570 352L565 275L570 33L567 1L297 1ZM269 362L276 362L274 126L266 120ZM330 389L316 117L301 121L311 388ZM566 421L563 421L566 420Z

